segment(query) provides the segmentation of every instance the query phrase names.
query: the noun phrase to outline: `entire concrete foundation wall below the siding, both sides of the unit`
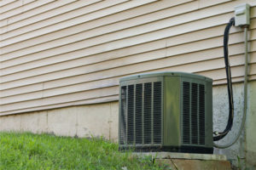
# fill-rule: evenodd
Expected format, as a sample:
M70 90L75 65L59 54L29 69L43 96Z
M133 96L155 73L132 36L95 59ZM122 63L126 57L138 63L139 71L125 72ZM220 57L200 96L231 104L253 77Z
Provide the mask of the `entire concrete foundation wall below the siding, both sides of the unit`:
M235 120L226 138L218 144L229 143L236 137L243 113L243 83L233 85ZM236 144L225 150L215 149L215 154L224 154L236 166L255 166L256 156L256 81L249 82L247 123ZM97 105L72 106L49 111L37 111L13 116L0 116L1 131L54 133L61 136L103 136L118 141L118 102ZM226 86L213 88L213 129L223 131L228 120L229 105ZM240 161L238 161L240 160Z

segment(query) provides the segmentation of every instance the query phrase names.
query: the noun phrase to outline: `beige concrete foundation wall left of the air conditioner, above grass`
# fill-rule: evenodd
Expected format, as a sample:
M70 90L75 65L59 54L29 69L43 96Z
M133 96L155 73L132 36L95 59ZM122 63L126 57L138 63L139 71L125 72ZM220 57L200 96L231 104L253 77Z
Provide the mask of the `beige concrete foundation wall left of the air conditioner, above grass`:
M0 116L0 131L118 140L118 102Z

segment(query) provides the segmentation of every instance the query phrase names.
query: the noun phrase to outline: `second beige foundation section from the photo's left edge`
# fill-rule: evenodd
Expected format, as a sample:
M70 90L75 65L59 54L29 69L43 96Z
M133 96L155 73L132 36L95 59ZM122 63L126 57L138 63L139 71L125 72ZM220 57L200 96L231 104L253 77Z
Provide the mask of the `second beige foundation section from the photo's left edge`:
M47 133L47 111L37 111L20 115L21 131Z

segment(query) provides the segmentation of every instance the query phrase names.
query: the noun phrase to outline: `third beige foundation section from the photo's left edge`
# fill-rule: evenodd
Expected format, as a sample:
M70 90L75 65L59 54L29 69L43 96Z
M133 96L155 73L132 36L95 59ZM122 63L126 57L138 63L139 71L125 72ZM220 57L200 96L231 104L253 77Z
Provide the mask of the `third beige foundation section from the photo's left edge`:
M48 133L59 136L75 136L77 132L76 107L48 111Z

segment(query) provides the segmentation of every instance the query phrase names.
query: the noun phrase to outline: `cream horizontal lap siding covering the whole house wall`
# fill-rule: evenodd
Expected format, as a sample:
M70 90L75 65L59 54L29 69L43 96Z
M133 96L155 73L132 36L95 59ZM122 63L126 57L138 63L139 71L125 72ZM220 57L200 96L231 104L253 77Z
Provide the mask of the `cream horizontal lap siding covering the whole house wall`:
M187 71L225 83L224 26L249 3L256 78L256 2L207 0L9 1L0 4L0 114L118 99L119 78ZM243 32L230 31L234 82L243 79Z

